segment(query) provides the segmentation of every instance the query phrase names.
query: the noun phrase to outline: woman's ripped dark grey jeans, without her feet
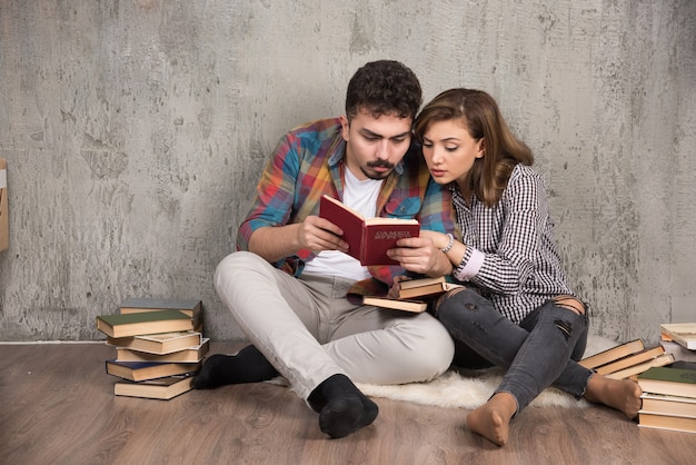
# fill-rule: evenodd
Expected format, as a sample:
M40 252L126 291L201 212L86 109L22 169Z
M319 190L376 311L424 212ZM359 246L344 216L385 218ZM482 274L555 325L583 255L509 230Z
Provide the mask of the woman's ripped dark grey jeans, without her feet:
M587 316L548 300L516 325L471 289L446 296L437 318L455 339L456 366L507 368L496 393L509 393L517 413L548 386L580 398L593 372L579 366ZM487 362L487 363L486 363Z

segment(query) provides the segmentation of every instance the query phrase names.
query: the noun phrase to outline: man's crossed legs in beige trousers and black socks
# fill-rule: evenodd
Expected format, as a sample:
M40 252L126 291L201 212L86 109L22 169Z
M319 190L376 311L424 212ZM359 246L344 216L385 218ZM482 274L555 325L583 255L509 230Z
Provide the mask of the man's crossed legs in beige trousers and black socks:
M404 316L348 303L344 296L351 284L319 276L297 279L249 253L228 256L216 271L216 290L252 346L237 356L210 357L193 385L250 383L280 374L319 413L320 428L331 437L369 425L377 405L351 379L428 380L448 368L454 346L430 315Z

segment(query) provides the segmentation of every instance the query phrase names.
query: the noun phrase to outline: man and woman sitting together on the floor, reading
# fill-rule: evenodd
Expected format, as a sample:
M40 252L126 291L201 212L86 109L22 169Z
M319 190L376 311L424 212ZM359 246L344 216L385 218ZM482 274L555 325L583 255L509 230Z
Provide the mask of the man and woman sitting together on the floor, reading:
M215 274L251 345L210 356L193 387L281 375L336 438L378 415L352 382L426 382L453 363L497 365L507 368L503 383L466 423L498 445L551 385L635 417L636 383L576 363L587 307L566 283L531 151L486 92L450 89L418 113L421 101L410 69L369 62L350 79L344 116L280 140L238 251ZM366 217L417 218L421 235L390 251L400 266L362 267L345 254L340 228L318 216L324 194ZM450 275L465 287L443 296L434 315L349 297L394 293L405 274Z

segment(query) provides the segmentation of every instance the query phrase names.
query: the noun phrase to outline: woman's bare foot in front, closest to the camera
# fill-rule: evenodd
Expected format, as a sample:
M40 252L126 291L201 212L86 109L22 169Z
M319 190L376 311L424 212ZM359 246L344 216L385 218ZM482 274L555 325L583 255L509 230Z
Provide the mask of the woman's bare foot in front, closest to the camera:
M497 393L467 416L467 426L474 433L503 446L507 443L510 419L516 410L517 402L511 394Z

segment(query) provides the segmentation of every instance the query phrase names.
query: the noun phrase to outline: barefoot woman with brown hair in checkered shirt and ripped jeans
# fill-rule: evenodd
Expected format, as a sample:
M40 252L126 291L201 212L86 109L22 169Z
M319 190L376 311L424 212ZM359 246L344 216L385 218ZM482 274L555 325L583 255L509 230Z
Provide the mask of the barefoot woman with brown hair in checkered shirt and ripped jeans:
M465 283L436 305L457 346L455 364L507 368L467 426L504 445L510 419L550 385L635 417L637 383L576 363L587 342L587 306L566 283L533 154L513 136L495 100L480 90L447 90L422 109L415 133L432 177L453 192L463 233L461 243L422 233Z

